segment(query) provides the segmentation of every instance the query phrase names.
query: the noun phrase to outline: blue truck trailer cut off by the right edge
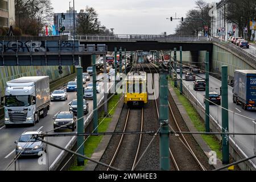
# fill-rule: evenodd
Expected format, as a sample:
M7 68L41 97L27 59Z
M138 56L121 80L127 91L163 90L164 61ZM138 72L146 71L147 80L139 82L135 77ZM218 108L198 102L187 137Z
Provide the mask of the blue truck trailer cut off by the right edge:
M244 110L256 110L256 70L235 70L233 102Z

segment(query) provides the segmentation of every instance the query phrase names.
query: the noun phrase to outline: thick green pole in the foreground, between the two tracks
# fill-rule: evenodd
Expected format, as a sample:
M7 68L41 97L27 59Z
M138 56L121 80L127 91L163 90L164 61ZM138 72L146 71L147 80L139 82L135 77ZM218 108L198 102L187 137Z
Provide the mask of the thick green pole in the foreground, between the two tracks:
M160 70L159 85L159 123L160 123L160 169L170 170L169 154L169 105L168 105L168 70Z

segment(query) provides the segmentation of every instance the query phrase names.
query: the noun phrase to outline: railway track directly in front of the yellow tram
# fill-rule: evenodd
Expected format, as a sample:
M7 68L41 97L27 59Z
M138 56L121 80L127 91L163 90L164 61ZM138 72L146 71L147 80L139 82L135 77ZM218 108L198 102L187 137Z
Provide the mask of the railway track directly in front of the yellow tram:
M140 115L141 117L134 117L136 115ZM126 115L126 121L125 126L123 127L123 132L138 130L143 130L143 108L129 109ZM122 134L109 166L113 166L125 171L133 171L135 168L135 163L138 160L138 154L141 147L141 140L142 134ZM109 171L109 168L107 168L106 170Z

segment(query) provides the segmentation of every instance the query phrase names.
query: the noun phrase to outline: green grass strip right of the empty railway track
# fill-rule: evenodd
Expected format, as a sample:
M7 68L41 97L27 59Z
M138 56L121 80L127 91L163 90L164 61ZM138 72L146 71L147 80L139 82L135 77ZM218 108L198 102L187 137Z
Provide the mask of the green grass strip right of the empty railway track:
M179 90L174 87L174 82L171 82L171 86L174 89L179 101L185 108L188 113L189 118L191 119L193 125L195 126L196 130L199 132L205 132L205 123L203 119L201 119L200 115L197 113L196 109L193 105L189 102L187 97L180 94ZM208 144L208 146L216 152L219 159L222 159L222 152L221 152L221 144L218 139L214 135L201 135L204 141Z

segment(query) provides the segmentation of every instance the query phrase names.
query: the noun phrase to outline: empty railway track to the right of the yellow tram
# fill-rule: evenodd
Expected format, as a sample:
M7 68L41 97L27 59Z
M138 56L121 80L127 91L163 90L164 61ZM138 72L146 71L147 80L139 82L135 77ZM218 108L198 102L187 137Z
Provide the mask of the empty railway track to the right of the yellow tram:
M146 64L147 65L147 64ZM151 68L154 68L156 73L158 73L158 70L155 68L153 64L151 65ZM151 72L150 67L147 65L148 69ZM152 72L151 72L152 73ZM153 84L154 89L154 84ZM155 99L156 108L158 108L157 100ZM170 101L168 101L169 109L170 109L170 121L169 127L172 131L181 131L179 123L177 122L177 119L175 117L174 111L172 110ZM159 118L159 111L158 112L158 118ZM176 137L170 137L170 166L171 169L176 169L177 171L181 170L203 170L205 171L205 167L203 164L201 164L200 160L197 158L195 153L193 152L191 146L189 145L189 142L184 137L183 134L177 135Z

